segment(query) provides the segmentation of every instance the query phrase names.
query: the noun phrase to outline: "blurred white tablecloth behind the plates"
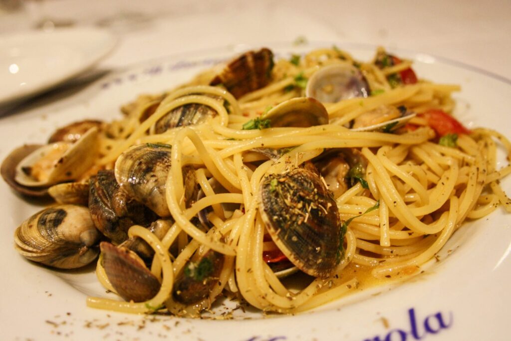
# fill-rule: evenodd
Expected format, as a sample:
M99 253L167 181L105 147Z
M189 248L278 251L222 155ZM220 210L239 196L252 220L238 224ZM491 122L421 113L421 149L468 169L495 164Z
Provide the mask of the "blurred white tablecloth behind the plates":
M25 11L0 14L0 32L28 29L34 19L29 4ZM98 65L106 70L174 53L303 36L427 53L511 79L508 0L46 0L38 13L118 34L118 48Z

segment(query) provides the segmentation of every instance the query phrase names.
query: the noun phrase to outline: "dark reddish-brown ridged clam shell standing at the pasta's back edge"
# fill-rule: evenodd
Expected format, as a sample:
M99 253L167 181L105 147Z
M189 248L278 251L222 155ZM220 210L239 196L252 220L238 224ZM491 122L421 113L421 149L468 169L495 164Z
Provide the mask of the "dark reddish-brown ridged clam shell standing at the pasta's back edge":
M269 49L249 51L229 62L210 85L223 85L234 97L240 98L266 86L270 82L273 65L273 53Z

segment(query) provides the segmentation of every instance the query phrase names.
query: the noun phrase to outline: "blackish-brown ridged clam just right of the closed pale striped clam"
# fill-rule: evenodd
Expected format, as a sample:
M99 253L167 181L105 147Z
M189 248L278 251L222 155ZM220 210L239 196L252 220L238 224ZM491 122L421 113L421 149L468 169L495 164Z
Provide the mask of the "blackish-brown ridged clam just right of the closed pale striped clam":
M128 239L132 225L147 227L157 219L153 211L121 189L112 170L100 170L90 178L88 207L96 228L115 244Z

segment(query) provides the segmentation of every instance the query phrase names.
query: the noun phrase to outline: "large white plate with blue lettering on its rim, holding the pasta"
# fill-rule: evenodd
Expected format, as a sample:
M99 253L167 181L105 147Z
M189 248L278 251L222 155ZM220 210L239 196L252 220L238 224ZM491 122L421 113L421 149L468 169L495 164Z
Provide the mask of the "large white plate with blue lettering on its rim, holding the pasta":
M331 43L293 47L274 44L279 56ZM375 48L340 46L367 60ZM246 47L245 47L246 48ZM71 99L0 120L0 157L24 143L43 142L58 126L86 117L111 119L137 94L152 93L189 79L197 71L236 54L236 48L172 56L134 66L100 80ZM415 60L418 75L459 83L457 116L469 127L511 129L511 82L466 65L398 52ZM51 112L51 115L48 113ZM502 162L499 166L504 166ZM511 191L511 181L503 181ZM380 287L332 302L314 312L261 319L257 312L234 312L237 320L187 320L172 316L133 316L85 306L87 294L104 295L91 269L66 273L26 261L13 249L16 226L40 207L15 196L0 181L2 339L104 340L468 340L507 339L511 303L511 219L499 208L465 224L425 274L398 287ZM220 312L224 311L220 308ZM250 317L250 320L243 320Z

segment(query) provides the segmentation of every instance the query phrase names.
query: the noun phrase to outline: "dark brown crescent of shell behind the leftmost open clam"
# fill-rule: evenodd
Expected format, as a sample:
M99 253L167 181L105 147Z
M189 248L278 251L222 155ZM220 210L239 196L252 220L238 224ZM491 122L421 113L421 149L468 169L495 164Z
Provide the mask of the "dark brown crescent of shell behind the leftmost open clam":
M28 196L47 196L48 187L28 187L22 186L14 180L16 176L16 166L30 153L40 148L41 145L24 145L14 149L2 162L0 172L7 185L9 185L16 192Z

